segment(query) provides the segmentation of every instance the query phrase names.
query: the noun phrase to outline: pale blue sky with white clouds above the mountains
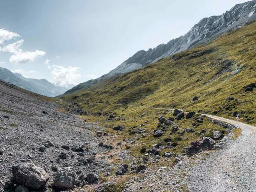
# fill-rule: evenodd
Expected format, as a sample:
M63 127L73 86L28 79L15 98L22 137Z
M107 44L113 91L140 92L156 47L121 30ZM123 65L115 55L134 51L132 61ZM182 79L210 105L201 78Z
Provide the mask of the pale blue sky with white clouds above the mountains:
M248 0L0 0L0 67L63 87Z

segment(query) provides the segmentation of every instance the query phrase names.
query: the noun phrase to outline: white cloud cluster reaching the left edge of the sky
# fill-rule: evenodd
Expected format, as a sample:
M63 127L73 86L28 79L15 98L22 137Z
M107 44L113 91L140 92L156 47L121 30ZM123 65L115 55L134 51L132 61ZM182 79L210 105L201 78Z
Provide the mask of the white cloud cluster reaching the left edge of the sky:
M13 40L17 37L20 37L19 34L15 32L10 32L5 29L0 29L0 44L3 44L5 41ZM36 50L36 51L24 51L20 47L24 43L23 39L20 39L12 44L8 44L4 47L0 47L0 52L10 52L13 55L9 58L10 62L14 63L25 63L33 62L36 58L44 56L46 52Z

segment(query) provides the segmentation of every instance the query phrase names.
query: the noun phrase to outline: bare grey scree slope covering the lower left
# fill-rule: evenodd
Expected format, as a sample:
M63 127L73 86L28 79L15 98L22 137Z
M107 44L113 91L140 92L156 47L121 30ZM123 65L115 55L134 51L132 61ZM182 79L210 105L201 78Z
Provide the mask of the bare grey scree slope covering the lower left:
M105 159L108 149L99 147L100 138L92 135L100 128L56 107L0 82L0 191L14 191L17 184L11 177L16 165L33 163L46 172L49 180L41 191L54 190L58 168L73 169L71 183L77 189L88 184L89 173L95 173L92 182L96 183L97 173L112 170Z

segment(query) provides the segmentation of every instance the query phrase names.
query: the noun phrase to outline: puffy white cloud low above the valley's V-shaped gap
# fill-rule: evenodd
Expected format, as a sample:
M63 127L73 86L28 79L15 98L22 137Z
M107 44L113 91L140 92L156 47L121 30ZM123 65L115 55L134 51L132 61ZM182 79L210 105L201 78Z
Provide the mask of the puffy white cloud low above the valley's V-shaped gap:
M67 87L77 85L77 80L81 78L79 67L52 65L52 82L58 86Z

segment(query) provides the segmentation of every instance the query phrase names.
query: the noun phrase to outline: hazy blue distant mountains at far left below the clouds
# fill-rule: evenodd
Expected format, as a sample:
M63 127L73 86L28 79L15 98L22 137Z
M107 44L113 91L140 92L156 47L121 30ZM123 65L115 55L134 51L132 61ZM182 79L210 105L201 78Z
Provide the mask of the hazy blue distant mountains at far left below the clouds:
M68 88L55 86L54 84L48 82L46 79L25 78L19 73L12 73L10 70L1 67L0 79L14 84L20 88L48 97L58 96L68 90Z

